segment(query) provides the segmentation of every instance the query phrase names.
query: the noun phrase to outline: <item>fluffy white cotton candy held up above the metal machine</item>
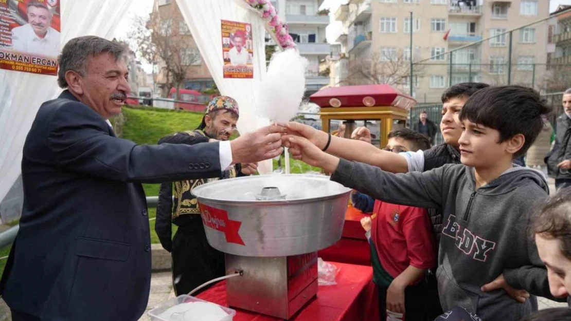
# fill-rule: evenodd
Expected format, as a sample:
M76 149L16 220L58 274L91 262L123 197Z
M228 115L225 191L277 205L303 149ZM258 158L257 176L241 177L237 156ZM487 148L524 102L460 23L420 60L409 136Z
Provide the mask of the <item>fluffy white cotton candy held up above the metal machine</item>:
M278 123L295 117L305 92L305 68L307 59L295 49L272 56L256 106L260 117Z

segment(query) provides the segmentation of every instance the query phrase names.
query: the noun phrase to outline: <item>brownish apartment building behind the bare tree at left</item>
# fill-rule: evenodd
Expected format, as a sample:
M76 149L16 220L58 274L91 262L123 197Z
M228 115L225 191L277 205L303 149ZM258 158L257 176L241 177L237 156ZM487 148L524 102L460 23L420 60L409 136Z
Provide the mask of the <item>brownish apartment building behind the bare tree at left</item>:
M182 88L203 91L212 88L214 80L208 71L206 63L203 63L200 51L194 42L194 38L180 13L180 9L174 0L155 0L151 15L156 15L160 23L160 29L165 36L176 39L177 42L184 43L179 50L182 61L188 62L187 75ZM174 42L174 43L177 43ZM188 45L187 45L188 44ZM175 50L176 48L173 47ZM160 62L155 66L154 82L157 87L163 91L163 95L168 93L170 88L167 86L167 72L164 62ZM208 95L199 97L201 100L208 100ZM206 101L201 101L206 102Z

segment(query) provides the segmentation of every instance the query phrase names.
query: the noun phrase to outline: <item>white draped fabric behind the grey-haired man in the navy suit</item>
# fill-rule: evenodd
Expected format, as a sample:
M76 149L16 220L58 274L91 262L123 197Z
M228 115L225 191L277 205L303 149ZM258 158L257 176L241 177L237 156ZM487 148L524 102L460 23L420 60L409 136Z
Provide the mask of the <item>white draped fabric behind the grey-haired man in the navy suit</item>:
M112 39L132 0L61 0L63 45L83 35ZM55 76L0 70L0 201L21 172L22 147L40 105L61 93Z

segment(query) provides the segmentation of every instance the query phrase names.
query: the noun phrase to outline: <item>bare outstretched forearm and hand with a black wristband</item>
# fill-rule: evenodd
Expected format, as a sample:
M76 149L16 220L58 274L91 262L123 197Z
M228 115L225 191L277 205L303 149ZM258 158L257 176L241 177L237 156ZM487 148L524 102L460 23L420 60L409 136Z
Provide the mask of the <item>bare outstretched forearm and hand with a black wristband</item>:
M319 149L323 149L327 145L329 135L326 132L295 122L287 123L285 126L291 135L304 137ZM408 163L403 156L383 151L361 140L331 136L327 152L341 159L364 162L391 173L408 172Z

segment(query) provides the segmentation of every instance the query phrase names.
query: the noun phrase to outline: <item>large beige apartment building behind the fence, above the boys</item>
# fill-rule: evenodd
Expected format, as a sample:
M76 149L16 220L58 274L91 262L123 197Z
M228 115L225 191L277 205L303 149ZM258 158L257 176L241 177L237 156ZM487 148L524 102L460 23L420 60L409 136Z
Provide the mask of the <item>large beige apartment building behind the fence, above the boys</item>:
M413 96L419 102L440 101L450 84L482 81L506 84L509 35L502 32L532 23L549 15L549 2L542 0L349 0L335 10L343 26L336 31L341 55L348 57L332 67L331 84L356 84L353 75L363 74L363 62L371 64L362 82L376 80L410 92L410 59L413 67ZM412 12L412 52L411 52ZM493 37L477 46L444 52ZM513 80L531 86L542 79L534 64L545 65L547 24L513 32ZM532 75L536 73L535 75ZM374 74L374 75L373 75ZM362 77L361 77L362 78ZM528 81L529 80L529 81ZM542 86L542 82L534 86Z

